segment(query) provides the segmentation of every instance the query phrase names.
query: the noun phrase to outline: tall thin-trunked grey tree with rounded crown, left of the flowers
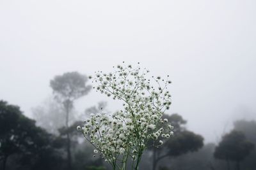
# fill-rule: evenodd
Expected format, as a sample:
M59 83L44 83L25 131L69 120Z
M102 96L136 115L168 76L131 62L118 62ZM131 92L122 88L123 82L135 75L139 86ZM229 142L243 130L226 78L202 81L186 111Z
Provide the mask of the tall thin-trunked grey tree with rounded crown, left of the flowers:
M68 129L70 123L70 111L74 108L74 101L88 94L92 87L86 85L87 76L77 72L64 73L55 76L50 85L55 99L63 105L65 110L65 128ZM72 158L70 152L70 134L67 131L67 168L72 169Z

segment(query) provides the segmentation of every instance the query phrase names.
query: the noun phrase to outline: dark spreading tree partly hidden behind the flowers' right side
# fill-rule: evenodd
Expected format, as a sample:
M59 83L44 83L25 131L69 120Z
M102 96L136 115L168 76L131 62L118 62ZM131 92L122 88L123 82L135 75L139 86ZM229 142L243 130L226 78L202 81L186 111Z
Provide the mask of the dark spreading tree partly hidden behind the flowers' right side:
M202 136L186 130L184 127L186 120L180 115L164 115L163 118L167 118L173 125L174 136L164 142L164 145L158 150L152 148L153 170L156 169L157 163L166 157L177 157L188 152L195 152L204 145Z

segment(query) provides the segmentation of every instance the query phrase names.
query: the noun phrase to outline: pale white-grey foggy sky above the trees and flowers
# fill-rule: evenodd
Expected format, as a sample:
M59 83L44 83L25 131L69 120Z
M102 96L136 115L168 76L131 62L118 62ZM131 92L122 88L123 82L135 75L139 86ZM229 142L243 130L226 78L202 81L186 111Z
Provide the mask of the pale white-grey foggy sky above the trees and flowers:
M256 117L256 1L0 1L0 99L31 108L56 74L112 71L141 62L170 75L172 107L216 141ZM102 101L90 92L77 110Z

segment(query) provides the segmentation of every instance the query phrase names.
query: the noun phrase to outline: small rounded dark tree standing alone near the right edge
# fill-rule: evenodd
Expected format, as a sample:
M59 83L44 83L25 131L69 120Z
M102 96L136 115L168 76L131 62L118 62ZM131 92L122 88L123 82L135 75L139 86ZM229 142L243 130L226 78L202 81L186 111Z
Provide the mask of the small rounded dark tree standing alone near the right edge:
M221 139L216 146L214 157L227 161L228 170L230 169L230 161L236 162L237 170L240 169L240 162L252 152L254 145L247 141L243 132L232 131Z

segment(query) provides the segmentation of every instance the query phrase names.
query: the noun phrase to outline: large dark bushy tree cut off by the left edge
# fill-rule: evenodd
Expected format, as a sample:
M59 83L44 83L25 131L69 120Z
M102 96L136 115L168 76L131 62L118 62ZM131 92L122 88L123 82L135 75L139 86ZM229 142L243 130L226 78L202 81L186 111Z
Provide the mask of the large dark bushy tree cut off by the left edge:
M60 159L55 155L53 143L53 136L22 115L18 106L0 101L1 169L6 169L6 162L12 155L17 155L20 164L31 169L54 169L56 165L52 163Z

